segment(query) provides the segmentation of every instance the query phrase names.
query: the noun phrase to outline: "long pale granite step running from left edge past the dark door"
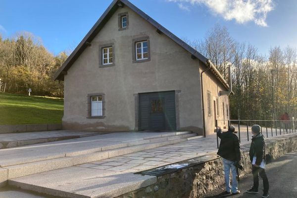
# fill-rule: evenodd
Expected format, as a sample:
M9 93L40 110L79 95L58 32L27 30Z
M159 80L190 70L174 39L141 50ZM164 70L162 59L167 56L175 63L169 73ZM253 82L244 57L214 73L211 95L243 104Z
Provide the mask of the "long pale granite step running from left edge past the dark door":
M4 179L2 179L3 181L0 181L0 182L5 182L5 180L7 179L18 178L26 175L46 172L50 170L56 170L64 167L80 165L80 164L94 162L94 161L107 159L115 156L120 156L124 154L130 154L130 153L134 153L134 152L138 152L138 151L142 151L150 148L158 148L158 147L172 145L179 142L185 142L185 141L188 141L188 138L195 137L195 135L196 134L186 133L183 135L178 135L177 139L168 140L173 136L165 137L166 140L162 139L163 141L161 142L152 142L152 143L143 142L143 144L140 144L140 145L133 145L133 144L129 145L128 143L125 143L125 144L113 145L112 147L109 146L108 149L94 148L89 150L80 150L77 152L69 152L69 153L65 153L64 155L56 155L55 158L42 157L42 158L35 158L34 160L28 159L26 161L22 161L21 163L18 162L19 164L17 164L17 162L14 162L12 164L6 163L6 165L5 164L2 165L3 171L0 172L0 174L1 173L4 174L4 176L2 177ZM150 139L145 141L150 141ZM7 172L4 170L7 170Z

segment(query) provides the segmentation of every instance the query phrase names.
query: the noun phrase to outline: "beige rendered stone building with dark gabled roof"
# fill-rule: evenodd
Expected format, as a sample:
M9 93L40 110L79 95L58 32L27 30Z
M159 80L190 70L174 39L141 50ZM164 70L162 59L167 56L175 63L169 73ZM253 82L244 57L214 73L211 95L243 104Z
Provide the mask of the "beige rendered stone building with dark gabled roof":
M219 94L229 85L212 63L128 0L112 1L55 79L64 81L63 129L205 136L229 119Z

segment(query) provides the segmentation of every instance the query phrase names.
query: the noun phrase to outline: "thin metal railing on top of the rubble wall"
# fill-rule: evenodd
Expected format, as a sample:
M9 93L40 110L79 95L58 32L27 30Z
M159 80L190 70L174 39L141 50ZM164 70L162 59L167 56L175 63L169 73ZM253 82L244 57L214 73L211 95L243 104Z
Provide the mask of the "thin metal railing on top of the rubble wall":
M297 120L216 120L215 127L218 132L218 122L227 122L228 126L234 125L236 132L238 133L239 141L242 142L242 136L245 136L246 140L249 141L251 136L251 126L254 124L261 126L261 134L264 134L266 138L296 133ZM243 133L244 132L244 133ZM219 148L219 139L217 139L217 148Z

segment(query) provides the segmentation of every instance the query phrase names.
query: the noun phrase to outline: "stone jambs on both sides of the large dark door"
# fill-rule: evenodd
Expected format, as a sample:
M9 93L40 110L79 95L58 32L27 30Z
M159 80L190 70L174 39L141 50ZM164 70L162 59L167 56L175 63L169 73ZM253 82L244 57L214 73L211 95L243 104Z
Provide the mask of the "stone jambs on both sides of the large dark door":
M179 99L181 90L175 90L175 119L176 119L176 130L180 130L180 109L179 109ZM140 128L139 123L139 94L134 94L134 109L135 109L135 131Z

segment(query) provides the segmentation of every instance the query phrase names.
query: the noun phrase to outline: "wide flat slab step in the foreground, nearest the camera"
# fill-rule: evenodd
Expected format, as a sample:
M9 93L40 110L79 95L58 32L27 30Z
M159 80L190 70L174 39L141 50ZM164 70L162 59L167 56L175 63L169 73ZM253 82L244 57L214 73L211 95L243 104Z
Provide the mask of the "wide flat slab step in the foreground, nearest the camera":
M10 187L61 198L114 198L154 183L155 176L76 166L8 181Z

